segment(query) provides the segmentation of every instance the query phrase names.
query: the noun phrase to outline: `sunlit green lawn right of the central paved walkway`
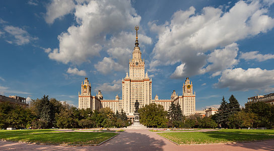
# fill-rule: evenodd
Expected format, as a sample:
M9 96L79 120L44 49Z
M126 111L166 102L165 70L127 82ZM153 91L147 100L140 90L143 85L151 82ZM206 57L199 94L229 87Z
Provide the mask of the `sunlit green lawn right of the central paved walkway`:
M213 132L176 132L176 133L158 133L178 144L199 144L199 143L223 143L256 141L265 139L274 139L273 130L254 130L246 132L241 129L224 129Z

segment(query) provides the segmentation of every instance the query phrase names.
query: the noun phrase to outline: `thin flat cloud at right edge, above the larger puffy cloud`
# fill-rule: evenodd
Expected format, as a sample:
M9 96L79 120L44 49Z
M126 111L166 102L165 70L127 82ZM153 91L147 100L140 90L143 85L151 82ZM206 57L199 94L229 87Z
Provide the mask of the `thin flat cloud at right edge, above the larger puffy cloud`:
M260 54L258 53L259 51L250 51L250 52L245 52L241 53L240 58L245 59L245 60L256 60L256 61L265 61L268 59L274 59L274 54Z

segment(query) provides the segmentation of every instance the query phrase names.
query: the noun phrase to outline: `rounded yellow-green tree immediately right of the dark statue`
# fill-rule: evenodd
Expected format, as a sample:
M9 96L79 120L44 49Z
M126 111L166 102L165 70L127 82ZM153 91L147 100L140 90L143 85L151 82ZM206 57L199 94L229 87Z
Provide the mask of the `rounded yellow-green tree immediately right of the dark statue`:
M166 127L167 111L160 104L147 104L145 107L139 109L140 122L148 127Z

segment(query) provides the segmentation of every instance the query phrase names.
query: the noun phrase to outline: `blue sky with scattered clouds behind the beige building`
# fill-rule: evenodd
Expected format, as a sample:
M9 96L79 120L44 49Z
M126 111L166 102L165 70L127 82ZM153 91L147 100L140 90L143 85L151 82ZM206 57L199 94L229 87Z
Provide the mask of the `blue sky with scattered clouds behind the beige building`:
M78 106L92 95L121 98L134 26L152 98L182 95L189 77L196 110L233 94L274 93L274 1L0 1L0 94L48 95Z

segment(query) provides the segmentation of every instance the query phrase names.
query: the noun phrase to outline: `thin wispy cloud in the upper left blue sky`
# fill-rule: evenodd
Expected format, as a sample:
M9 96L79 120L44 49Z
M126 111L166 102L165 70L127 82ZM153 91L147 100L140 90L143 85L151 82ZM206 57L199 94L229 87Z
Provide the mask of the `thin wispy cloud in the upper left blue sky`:
M24 45L28 44L31 40L37 40L37 37L31 37L30 34L19 27L14 26L5 26L4 30L9 33L11 36L13 36L13 40L9 41L6 40L9 43L16 43L17 45Z

